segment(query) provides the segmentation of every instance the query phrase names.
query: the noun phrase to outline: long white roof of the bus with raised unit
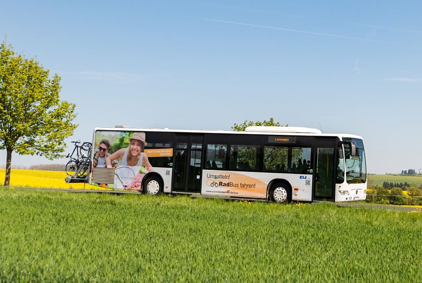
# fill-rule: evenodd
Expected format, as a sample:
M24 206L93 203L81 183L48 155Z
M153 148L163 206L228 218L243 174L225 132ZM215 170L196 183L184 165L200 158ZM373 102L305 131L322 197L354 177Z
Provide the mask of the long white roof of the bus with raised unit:
M283 129L281 129L283 128ZM347 133L322 133L318 129L304 127L269 127L269 126L253 126L247 127L246 131L227 131L227 130L181 130L181 129L158 129L158 128L130 128L130 127L114 127L102 128L97 127L94 131L155 131L155 132L176 132L176 133L220 133L220 134L266 134L266 135L300 135L300 136L336 136L336 137L353 137L362 139L361 136Z

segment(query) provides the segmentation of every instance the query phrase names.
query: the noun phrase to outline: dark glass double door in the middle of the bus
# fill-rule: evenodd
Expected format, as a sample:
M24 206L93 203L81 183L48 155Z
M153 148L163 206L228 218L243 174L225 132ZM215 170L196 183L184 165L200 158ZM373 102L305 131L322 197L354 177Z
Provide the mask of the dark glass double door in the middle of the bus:
M173 191L201 191L202 148L204 137L198 134L176 136L176 158Z

